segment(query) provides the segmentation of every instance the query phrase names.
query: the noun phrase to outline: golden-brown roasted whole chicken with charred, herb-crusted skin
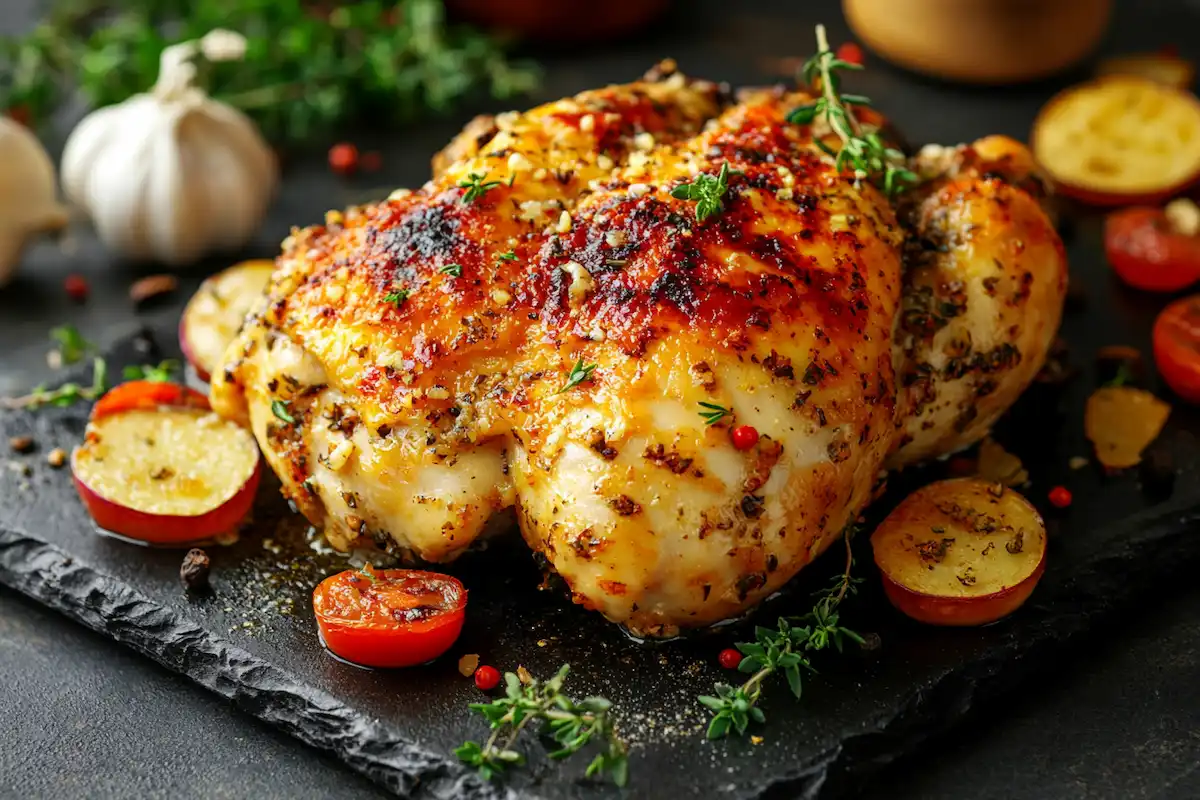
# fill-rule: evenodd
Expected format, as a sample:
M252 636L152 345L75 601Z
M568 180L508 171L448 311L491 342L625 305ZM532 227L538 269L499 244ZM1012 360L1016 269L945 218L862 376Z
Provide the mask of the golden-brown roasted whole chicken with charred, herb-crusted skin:
M476 120L419 191L294 231L214 407L337 547L446 561L515 505L575 600L636 633L744 610L841 535L889 456L983 435L1062 305L1027 174L953 151L898 218L785 121L806 97L733 103L667 65ZM671 190L725 163L697 222ZM911 331L913 299L947 293L970 296ZM965 367L947 337L970 338ZM732 419L707 426L702 402Z

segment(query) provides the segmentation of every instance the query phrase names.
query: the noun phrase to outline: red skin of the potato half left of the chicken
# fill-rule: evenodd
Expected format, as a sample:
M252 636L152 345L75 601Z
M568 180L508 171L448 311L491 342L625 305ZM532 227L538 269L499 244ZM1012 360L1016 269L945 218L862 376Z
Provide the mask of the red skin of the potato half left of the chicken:
M76 477L73 456L71 461L71 480L79 492L79 499L101 529L161 547L186 547L235 529L250 513L263 475L263 461L259 459L250 479L222 505L197 517L179 517L146 513L101 497Z

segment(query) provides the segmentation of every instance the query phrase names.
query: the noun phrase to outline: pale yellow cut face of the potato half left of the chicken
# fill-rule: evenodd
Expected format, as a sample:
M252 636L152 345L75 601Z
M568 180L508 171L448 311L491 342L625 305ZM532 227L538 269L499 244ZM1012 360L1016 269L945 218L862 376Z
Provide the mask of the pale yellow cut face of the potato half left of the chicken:
M211 411L150 409L92 421L73 467L106 500L194 517L230 500L257 463L257 445L235 423Z

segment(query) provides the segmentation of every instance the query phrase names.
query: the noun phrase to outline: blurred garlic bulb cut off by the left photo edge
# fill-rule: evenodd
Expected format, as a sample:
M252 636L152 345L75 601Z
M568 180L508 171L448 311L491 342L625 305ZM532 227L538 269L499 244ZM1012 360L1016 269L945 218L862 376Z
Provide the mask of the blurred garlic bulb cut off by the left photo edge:
M66 209L55 200L54 162L25 126L0 116L0 287L31 236L66 223Z

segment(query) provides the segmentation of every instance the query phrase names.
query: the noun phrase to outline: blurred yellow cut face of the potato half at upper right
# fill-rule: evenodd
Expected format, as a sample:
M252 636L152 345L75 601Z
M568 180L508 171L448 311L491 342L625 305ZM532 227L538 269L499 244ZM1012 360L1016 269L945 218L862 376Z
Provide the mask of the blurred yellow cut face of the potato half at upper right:
M1200 169L1200 103L1142 78L1111 77L1051 101L1032 144L1063 184L1156 192L1186 184Z

